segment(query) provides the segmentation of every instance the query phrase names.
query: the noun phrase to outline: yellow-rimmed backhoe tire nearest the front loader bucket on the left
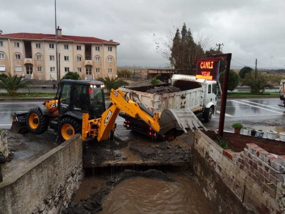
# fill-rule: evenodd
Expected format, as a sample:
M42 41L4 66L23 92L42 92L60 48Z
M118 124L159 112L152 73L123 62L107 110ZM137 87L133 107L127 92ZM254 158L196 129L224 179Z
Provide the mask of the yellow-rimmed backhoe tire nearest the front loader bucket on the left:
M41 134L47 130L48 117L39 108L30 109L27 115L27 128L33 134Z

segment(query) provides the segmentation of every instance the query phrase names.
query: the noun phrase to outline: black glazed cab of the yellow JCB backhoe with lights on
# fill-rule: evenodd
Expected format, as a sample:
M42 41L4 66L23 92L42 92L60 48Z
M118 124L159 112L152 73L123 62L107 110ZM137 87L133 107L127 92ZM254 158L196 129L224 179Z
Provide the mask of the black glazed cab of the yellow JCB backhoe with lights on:
M59 117L69 115L82 120L82 113L89 113L94 119L106 110L104 84L100 81L62 80L57 96Z

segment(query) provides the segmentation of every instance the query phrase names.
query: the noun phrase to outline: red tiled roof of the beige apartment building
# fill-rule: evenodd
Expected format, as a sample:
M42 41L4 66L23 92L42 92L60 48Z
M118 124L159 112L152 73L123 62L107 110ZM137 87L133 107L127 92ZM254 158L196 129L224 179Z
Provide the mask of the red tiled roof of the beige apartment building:
M11 39L36 39L36 40L55 40L54 34L43 34L43 33L9 33L1 34L0 37L8 37ZM86 43L107 43L107 44L120 44L114 41L108 41L98 39L96 37L88 36L58 36L58 40L74 41L74 42L86 42Z

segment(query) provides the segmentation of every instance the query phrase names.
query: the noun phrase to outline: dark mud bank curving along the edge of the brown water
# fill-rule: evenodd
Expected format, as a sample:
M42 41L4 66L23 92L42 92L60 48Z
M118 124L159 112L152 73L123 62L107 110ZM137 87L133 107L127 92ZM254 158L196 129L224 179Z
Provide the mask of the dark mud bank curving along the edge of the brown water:
M104 197L110 193L111 187L119 184L122 181L125 181L129 178L134 177L144 177L144 178L154 178L161 181L166 182L175 182L175 180L161 171L158 170L147 170L145 172L142 171L133 171L133 170L125 170L124 172L116 175L112 175L107 177L107 179L101 183L101 185L92 187L94 188L92 196L89 198L81 198L81 204L76 203L78 200L76 197L73 197L73 200L69 203L68 208L63 208L63 214L91 214L96 213L99 210L102 210L102 204Z

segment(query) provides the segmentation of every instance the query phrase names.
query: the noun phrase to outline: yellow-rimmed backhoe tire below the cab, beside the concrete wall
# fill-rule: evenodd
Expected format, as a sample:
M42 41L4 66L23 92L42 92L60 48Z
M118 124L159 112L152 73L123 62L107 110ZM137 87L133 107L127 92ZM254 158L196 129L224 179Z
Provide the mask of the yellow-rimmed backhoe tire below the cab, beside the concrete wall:
M77 133L81 133L80 122L76 119L65 117L58 123L58 139L60 142L64 142Z

